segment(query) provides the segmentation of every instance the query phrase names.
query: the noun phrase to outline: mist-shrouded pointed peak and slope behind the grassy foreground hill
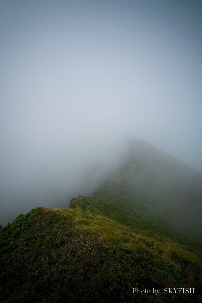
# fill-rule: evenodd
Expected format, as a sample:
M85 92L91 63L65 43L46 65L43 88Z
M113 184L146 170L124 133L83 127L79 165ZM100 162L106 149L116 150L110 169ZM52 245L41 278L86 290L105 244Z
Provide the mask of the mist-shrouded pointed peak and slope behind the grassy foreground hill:
M120 223L178 238L201 239L202 174L144 141L92 197L70 207L104 213ZM155 228L154 228L155 227Z

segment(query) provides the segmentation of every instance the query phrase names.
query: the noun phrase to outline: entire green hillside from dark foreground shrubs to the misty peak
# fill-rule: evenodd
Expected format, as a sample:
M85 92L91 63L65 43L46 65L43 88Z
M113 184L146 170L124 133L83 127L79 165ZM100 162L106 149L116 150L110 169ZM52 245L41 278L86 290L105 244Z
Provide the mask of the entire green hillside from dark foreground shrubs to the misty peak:
M199 172L132 143L91 196L0 229L1 302L202 302L201 199Z

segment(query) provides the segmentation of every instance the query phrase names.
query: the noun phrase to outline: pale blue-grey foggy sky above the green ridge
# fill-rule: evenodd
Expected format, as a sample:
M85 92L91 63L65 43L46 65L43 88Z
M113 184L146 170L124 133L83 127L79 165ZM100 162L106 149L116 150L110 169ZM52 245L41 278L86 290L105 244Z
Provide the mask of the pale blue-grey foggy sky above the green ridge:
M3 226L89 195L130 138L202 172L201 15L200 0L0 0Z

